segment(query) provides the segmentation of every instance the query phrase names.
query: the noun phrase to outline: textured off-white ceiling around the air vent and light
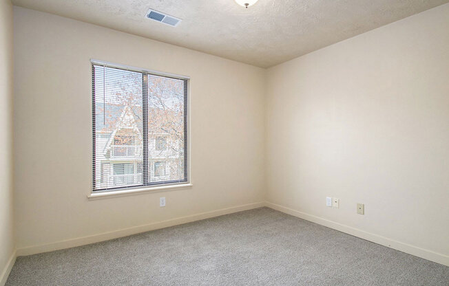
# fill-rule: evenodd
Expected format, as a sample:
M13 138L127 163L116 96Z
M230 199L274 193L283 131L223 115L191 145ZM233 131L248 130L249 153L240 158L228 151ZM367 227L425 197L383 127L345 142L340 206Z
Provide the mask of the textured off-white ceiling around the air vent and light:
M12 0L14 5L271 67L449 0ZM182 19L145 18L149 8Z

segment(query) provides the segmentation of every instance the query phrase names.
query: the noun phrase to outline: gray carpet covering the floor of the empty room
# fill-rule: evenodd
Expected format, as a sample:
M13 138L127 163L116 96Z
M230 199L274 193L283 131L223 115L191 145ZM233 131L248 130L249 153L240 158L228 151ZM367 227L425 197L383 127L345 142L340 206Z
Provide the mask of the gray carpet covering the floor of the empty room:
M15 285L449 285L449 267L269 208L17 259Z

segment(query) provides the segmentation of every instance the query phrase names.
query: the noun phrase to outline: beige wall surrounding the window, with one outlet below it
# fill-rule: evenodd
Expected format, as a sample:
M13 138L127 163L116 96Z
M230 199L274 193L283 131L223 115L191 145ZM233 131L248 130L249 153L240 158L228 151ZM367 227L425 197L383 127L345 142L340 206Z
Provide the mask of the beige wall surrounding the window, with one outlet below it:
M264 69L24 8L14 25L18 248L263 200ZM191 77L192 188L87 200L90 58Z

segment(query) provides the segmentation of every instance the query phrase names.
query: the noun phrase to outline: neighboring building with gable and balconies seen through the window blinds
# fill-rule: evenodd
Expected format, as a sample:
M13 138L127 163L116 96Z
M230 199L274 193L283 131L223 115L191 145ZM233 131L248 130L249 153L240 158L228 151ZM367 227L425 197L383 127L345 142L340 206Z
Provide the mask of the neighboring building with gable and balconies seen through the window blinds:
M139 109L138 105L106 104L106 114L96 115L96 189L143 184L143 124ZM182 137L153 125L148 124L149 181L179 179Z

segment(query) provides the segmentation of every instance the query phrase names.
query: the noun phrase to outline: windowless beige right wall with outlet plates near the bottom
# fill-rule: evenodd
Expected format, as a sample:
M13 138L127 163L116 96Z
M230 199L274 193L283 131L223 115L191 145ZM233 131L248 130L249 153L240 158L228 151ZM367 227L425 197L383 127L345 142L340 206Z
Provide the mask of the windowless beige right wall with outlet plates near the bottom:
M446 4L269 69L267 200L447 258L448 28Z

